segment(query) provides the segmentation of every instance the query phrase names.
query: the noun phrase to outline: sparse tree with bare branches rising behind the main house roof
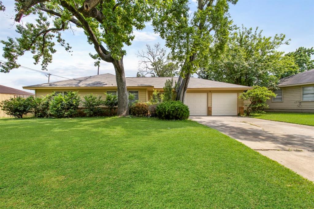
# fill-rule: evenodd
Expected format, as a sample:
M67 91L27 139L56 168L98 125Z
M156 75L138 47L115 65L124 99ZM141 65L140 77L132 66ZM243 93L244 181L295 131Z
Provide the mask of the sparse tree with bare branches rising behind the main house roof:
M137 77L173 77L179 69L159 43L154 47L147 44L146 51L138 52L137 56L140 58Z

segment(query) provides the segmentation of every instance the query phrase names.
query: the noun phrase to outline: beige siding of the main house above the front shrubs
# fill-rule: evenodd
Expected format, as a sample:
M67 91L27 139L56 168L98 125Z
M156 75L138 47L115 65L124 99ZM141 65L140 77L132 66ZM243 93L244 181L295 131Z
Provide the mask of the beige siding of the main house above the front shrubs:
M51 94L53 91L78 91L78 94L81 96L81 99L84 100L84 96L87 94L94 94L95 96L101 96L102 100L106 99L107 91L116 91L116 88L78 88L78 89L68 89L68 88L56 88L56 89L36 89L35 97L46 96L47 94ZM128 91L138 91L138 99L139 101L146 102L146 89L136 89L136 88L128 88Z

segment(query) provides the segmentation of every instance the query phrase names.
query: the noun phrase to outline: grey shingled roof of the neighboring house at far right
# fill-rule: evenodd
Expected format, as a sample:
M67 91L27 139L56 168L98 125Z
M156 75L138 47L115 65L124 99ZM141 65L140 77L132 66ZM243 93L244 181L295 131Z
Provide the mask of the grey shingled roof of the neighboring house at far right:
M302 83L314 83L314 69L281 78L278 86L297 85Z

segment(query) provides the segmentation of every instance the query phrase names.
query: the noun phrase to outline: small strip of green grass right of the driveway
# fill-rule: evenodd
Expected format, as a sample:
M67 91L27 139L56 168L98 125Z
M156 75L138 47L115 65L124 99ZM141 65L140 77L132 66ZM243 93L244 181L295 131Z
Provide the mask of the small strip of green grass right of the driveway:
M314 113L267 112L264 114L253 114L251 116L270 121L282 121L314 126Z

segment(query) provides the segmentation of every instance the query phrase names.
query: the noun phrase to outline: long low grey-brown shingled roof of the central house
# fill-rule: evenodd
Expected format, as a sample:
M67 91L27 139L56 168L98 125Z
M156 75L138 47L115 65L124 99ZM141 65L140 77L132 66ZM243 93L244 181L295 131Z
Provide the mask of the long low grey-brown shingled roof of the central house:
M127 87L154 87L163 88L167 79L173 78L178 81L178 77L133 77L126 78ZM42 83L38 85L25 86L24 88L36 87L116 87L116 76L110 73L82 78L68 79L52 83ZM211 81L200 78L190 78L188 88L250 88L231 83Z

